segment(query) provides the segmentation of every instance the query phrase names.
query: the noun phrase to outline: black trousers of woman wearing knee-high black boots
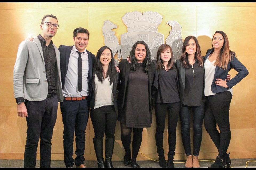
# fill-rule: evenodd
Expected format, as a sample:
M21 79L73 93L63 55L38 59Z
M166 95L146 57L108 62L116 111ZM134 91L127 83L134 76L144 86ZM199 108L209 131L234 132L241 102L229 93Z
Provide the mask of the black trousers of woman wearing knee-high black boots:
M91 109L90 117L95 139L103 139L104 134L106 134L106 138L115 137L117 113L113 105Z

